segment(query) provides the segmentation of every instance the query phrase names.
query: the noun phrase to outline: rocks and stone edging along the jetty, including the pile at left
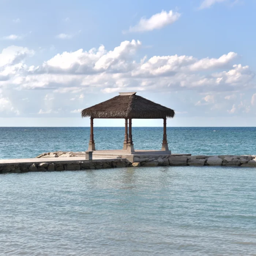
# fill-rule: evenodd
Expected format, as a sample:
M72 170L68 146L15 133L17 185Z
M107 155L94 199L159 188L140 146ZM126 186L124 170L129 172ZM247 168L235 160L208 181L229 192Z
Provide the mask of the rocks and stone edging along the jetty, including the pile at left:
M0 163L0 173L46 172L63 170L106 169L115 167L153 167L153 166L240 166L256 167L256 155L133 155L132 158L114 158L98 160L76 160L75 153L64 152L70 160L61 160L61 155L45 153L42 161L29 159L28 162ZM44 157L48 156L48 157ZM74 156L74 157L73 157ZM38 156L39 157L39 156ZM37 157L37 158L38 158ZM56 159L60 157L60 159ZM55 158L51 160L50 158ZM37 161L35 161L37 160Z

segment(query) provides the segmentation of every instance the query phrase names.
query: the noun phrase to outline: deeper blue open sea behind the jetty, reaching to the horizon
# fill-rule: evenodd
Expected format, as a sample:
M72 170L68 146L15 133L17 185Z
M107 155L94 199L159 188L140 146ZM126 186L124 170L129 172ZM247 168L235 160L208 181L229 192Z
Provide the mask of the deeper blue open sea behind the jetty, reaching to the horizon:
M160 150L162 127L133 127L135 149ZM0 159L32 158L41 153L85 151L89 127L0 127ZM95 127L96 149L123 148L123 127ZM256 154L256 127L167 127L173 153Z

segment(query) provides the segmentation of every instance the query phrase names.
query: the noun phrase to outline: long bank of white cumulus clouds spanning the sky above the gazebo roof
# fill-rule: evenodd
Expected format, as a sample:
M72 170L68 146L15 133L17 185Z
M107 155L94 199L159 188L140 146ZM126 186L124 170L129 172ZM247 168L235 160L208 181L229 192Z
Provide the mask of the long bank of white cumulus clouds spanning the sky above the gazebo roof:
M56 54L41 65L27 67L25 60L34 52L10 46L0 53L0 87L19 90L48 89L49 93L118 91L194 90L210 95L196 105L212 104L214 91L253 88L255 74L248 66L235 64L237 53L215 58L194 56L152 56L137 59L140 41L124 41L112 50L98 49ZM31 61L30 61L31 63ZM227 98L226 98L227 99Z

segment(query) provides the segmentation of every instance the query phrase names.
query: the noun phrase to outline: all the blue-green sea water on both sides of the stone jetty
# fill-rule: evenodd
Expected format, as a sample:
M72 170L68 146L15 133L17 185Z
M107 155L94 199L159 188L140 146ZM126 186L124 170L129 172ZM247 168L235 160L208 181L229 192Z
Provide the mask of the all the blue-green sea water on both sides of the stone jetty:
M95 128L98 149L123 128ZM162 128L133 128L159 149ZM170 149L255 154L256 128L167 128ZM84 151L89 128L0 128L0 159ZM128 167L0 174L2 256L256 255L256 168Z

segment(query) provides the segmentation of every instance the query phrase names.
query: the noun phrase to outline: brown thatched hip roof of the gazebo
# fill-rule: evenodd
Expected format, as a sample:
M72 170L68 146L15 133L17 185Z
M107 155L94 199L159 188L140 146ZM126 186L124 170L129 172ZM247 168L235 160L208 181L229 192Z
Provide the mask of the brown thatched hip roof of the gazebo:
M82 117L156 119L174 117L175 112L136 93L120 95L81 111Z

